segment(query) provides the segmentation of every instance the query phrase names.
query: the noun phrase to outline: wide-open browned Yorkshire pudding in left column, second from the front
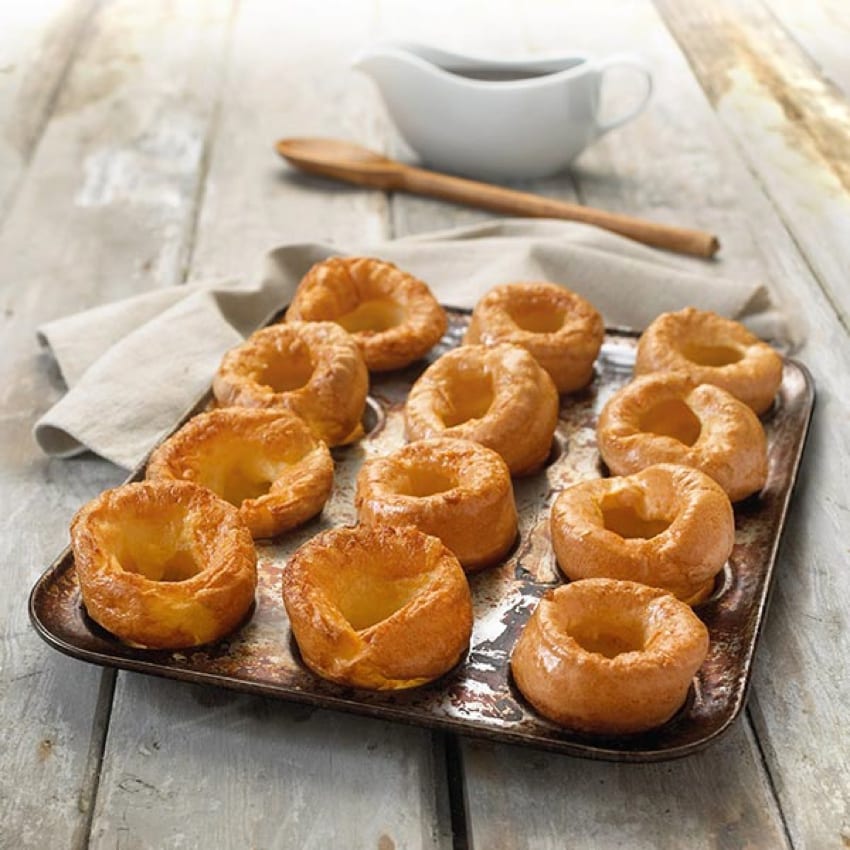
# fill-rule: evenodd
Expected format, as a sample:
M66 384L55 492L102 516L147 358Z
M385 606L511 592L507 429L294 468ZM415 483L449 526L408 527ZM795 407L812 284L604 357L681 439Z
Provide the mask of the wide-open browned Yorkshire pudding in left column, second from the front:
M274 537L322 510L333 471L328 447L294 413L223 407L166 440L147 477L207 487L239 509L254 537Z

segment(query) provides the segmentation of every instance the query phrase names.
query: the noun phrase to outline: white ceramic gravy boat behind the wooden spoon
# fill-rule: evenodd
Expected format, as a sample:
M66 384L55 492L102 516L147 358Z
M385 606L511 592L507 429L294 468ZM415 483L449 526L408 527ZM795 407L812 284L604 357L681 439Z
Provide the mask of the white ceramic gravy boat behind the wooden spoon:
M601 121L602 80L615 66L638 72L644 90L628 112ZM634 118L652 93L649 69L626 54L505 61L392 42L363 51L354 67L375 80L401 135L427 164L485 179L560 171Z

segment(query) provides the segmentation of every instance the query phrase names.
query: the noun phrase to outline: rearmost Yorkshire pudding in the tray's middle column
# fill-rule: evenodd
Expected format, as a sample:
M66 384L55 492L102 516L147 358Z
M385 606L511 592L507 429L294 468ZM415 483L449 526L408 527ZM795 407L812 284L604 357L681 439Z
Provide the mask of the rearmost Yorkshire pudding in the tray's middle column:
M596 308L555 283L506 283L472 311L464 343L520 345L549 373L558 392L581 389L593 376L605 325Z

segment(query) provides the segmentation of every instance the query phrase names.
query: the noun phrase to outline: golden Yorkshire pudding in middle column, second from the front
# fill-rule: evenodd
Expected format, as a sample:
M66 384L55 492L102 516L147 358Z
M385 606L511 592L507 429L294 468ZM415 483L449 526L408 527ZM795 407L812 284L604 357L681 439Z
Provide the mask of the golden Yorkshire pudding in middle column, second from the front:
M499 561L517 534L510 470L470 440L417 440L367 460L355 505L364 525L413 525L439 537L467 571Z

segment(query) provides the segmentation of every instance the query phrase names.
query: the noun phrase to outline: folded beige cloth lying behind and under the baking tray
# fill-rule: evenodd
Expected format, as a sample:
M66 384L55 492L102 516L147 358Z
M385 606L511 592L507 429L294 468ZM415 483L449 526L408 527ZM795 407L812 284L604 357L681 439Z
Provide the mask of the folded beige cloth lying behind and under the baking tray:
M609 326L639 330L694 305L781 343L800 337L763 284L574 222L503 219L371 246L284 245L259 285L155 290L39 328L69 387L36 423L39 445L58 457L89 449L132 469L209 387L222 354L284 307L313 263L347 254L394 262L454 307L473 307L499 283L550 280L588 298Z

